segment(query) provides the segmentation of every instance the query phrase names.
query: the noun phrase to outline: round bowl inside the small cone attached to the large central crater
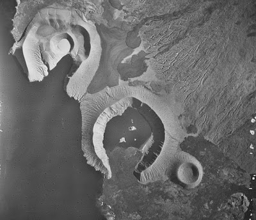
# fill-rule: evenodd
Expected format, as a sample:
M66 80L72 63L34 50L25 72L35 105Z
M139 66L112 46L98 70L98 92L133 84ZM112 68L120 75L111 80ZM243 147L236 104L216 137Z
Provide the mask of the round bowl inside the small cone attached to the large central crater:
M194 184L199 177L198 168L191 162L184 162L180 164L177 170L177 178L182 184L189 185Z

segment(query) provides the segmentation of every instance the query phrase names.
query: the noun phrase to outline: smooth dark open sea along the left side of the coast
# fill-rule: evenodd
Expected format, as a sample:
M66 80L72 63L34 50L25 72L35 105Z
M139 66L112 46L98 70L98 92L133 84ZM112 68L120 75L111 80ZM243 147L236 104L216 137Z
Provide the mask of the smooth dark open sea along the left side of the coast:
M95 207L102 177L81 151L79 104L63 90L70 58L29 83L8 56L14 4L0 4L0 219L104 219Z

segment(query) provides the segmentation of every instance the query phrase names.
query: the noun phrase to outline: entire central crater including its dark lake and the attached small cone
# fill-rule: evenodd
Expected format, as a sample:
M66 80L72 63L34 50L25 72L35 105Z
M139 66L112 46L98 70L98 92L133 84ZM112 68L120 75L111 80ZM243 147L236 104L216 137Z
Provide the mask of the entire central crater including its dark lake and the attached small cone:
M120 177L121 172L131 177L133 171L141 184L167 177L184 187L196 187L203 169L195 157L179 148L184 136L174 107L166 97L140 87L115 86L84 95L82 148L88 164L106 178ZM140 157L136 154L137 164L132 161L130 166L126 161L126 169L115 161L120 159L114 158L115 152L126 152L122 148L141 152Z

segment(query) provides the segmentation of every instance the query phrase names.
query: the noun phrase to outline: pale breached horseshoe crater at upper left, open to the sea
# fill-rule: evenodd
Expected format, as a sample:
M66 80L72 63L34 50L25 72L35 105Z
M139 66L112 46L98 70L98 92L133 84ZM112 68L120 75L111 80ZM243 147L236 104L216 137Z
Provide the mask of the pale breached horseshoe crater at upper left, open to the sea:
M101 46L95 25L78 10L47 7L36 13L9 53L22 47L29 81L42 81L63 56L73 59L67 93L81 98L99 67Z

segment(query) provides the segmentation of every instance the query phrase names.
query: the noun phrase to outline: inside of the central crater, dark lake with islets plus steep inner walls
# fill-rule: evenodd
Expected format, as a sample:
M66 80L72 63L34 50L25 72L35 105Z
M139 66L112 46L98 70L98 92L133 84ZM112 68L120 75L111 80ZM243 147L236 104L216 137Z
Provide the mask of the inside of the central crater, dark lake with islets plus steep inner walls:
M141 150L143 156L134 170L134 176L140 180L141 171L156 161L164 143L164 125L159 116L147 104L129 97L105 109L97 122L93 130L104 131L102 142L107 154L116 146ZM98 126L102 123L106 123L104 129Z

